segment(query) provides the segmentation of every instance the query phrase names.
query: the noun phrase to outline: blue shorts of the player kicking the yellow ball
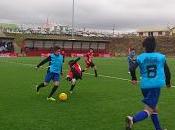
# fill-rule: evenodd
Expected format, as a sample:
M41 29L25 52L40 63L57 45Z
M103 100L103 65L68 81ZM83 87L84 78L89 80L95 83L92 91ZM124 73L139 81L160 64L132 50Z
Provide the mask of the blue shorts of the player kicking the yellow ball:
M45 82L49 83L51 80L59 81L60 80L60 75L58 73L47 72L47 74L45 76Z

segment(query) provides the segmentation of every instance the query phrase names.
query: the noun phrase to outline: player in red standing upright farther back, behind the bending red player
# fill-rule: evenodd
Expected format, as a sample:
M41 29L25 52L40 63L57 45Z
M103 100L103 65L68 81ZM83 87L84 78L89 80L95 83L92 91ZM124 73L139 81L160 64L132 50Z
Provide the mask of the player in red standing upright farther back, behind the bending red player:
M86 68L83 70L83 72L88 70L91 67L94 69L95 77L97 77L97 67L93 62L93 55L94 55L94 50L90 48L89 52L85 55Z

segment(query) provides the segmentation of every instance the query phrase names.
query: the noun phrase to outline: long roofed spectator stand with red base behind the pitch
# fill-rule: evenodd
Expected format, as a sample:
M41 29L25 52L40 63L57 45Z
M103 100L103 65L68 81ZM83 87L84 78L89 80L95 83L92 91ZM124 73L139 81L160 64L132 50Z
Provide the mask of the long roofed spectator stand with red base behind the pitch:
M60 46L66 56L83 55L93 48L95 56L108 53L109 41L105 40L50 40L50 39L26 39L23 41L22 51L26 56L40 56L50 53L54 46Z

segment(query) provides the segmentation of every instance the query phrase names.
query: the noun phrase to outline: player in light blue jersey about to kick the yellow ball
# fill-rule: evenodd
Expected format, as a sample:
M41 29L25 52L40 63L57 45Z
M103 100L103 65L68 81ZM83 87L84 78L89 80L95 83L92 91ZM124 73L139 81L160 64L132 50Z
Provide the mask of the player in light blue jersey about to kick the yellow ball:
M49 62L49 67L47 70L47 74L45 76L45 80L43 83L40 83L36 86L36 91L39 93L39 90L43 87L46 87L51 80L54 82L54 87L52 88L49 96L47 97L47 100L55 101L55 99L52 97L52 95L56 92L59 81L60 81L60 75L62 74L62 64L63 64L63 56L61 55L61 49L60 47L54 47L54 52L50 54L49 57L41 61L36 68L39 68L40 66L44 65L45 63Z

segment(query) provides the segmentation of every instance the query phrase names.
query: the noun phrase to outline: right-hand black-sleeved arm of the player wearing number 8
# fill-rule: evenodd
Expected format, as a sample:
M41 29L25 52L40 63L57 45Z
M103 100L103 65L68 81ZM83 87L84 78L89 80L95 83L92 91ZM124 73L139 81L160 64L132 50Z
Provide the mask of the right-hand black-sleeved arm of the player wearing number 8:
M170 69L166 62L164 64L164 71L165 71L165 78L166 78L166 86L170 88L171 87L171 73L170 73Z

